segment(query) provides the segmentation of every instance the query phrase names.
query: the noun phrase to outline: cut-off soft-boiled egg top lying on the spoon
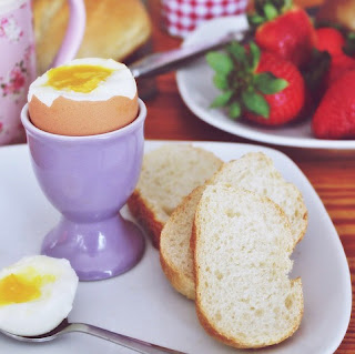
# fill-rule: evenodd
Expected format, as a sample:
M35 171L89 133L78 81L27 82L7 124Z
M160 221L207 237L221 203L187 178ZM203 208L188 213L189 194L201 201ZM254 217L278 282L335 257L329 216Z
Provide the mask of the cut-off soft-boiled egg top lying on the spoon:
M69 261L27 256L0 271L0 328L18 335L40 335L70 313L78 276Z

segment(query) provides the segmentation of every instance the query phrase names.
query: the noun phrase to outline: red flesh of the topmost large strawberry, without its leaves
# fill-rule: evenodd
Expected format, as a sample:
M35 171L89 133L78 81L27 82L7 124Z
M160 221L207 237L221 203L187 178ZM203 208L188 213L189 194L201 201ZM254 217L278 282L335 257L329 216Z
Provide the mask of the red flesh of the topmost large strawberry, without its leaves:
M257 27L255 42L262 50L276 53L301 67L311 57L316 40L315 30L303 9L292 7L281 13Z

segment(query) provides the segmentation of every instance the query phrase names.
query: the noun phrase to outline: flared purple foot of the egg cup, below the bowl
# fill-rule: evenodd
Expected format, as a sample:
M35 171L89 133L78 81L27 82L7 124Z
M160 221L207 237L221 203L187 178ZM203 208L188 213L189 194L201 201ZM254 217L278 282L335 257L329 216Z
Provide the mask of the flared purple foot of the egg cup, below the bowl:
M120 214L91 223L62 216L44 237L41 254L69 260L80 281L98 281L131 270L144 245L141 230Z

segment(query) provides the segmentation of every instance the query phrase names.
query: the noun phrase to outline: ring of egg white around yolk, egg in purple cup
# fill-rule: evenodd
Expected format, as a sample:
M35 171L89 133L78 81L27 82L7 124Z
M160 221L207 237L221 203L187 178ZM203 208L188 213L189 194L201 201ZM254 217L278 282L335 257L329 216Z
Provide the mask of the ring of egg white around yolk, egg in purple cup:
M53 101L59 97L75 101L106 101L116 95L126 97L132 100L136 94L135 80L129 68L123 63L112 59L83 58L74 59L64 65L99 65L114 71L89 93L58 90L50 85L45 85L48 82L48 72L45 72L31 83L28 101L30 102L32 97L36 95L42 103L51 107Z

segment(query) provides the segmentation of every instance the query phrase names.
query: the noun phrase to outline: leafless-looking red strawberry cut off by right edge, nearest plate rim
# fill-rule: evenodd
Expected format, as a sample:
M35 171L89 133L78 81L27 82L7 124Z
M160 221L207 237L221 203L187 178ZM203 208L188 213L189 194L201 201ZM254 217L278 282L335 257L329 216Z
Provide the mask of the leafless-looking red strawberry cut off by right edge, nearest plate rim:
M355 138L355 70L326 91L313 117L312 128L321 139Z

